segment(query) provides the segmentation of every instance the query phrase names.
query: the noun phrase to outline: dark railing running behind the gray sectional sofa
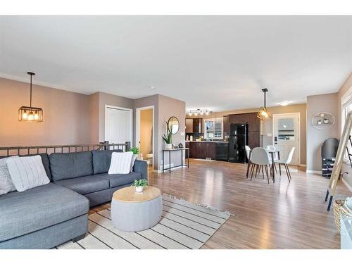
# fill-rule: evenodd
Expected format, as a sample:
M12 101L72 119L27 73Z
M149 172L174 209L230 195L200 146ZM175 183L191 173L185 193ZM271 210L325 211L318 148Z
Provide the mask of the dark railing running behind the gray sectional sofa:
M1 146L0 156L30 155L39 153L72 153L92 150L122 150L131 149L131 142L109 143L101 142L99 144L80 144L80 145L53 145L53 146Z

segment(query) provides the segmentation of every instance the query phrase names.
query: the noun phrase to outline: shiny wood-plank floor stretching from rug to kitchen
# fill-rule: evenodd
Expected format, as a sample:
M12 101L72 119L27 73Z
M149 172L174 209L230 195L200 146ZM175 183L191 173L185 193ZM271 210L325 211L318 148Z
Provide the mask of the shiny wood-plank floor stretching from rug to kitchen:
M151 172L149 183L162 193L233 213L202 249L339 249L327 183L319 175L291 172L268 184L260 175L246 179L246 165L190 160L190 168ZM337 198L351 196L339 182ZM92 208L103 210L108 203Z

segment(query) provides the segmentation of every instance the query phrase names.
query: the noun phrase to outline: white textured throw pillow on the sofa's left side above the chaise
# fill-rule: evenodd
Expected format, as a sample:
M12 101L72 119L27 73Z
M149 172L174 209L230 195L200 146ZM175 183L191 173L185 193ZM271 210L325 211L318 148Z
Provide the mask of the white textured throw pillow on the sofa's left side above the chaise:
M6 163L17 191L25 191L50 182L39 155L11 158Z

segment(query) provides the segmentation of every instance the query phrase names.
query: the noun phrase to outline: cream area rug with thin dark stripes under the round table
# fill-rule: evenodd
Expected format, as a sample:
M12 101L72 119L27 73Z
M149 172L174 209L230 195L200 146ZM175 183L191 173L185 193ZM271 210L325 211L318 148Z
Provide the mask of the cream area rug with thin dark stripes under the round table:
M200 249L230 218L230 213L163 194L161 221L149 230L122 232L111 222L110 209L89 215L84 239L57 249Z

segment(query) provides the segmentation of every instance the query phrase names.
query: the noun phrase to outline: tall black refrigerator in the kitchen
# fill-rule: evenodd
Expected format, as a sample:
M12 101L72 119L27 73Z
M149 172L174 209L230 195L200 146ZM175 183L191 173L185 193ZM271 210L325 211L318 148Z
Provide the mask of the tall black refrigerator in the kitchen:
M248 145L248 124L230 124L229 161L246 163Z

